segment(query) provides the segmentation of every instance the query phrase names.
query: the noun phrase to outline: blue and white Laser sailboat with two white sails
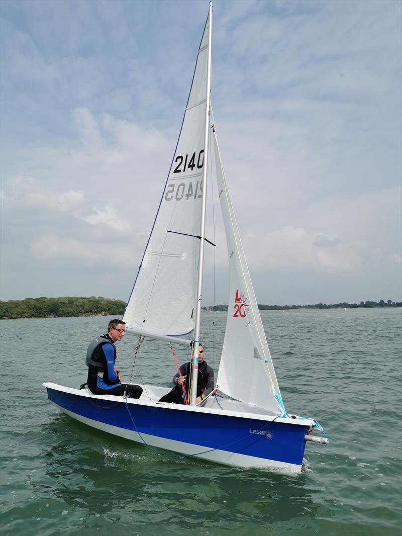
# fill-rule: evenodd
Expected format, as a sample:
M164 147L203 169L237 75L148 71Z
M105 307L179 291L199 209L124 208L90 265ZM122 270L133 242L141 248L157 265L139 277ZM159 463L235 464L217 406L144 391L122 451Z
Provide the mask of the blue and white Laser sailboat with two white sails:
M306 442L328 440L314 435L323 433L314 419L289 415L281 397L218 145L211 36L212 3L180 135L123 321L126 333L141 340L190 347L197 385L204 247L213 247L205 236L207 163L213 149L229 259L229 305L215 389L202 404L197 404L196 389L188 404L166 404L159 399L169 389L155 385L142 384L138 400L50 382L43 386L49 400L74 419L153 451L298 473Z

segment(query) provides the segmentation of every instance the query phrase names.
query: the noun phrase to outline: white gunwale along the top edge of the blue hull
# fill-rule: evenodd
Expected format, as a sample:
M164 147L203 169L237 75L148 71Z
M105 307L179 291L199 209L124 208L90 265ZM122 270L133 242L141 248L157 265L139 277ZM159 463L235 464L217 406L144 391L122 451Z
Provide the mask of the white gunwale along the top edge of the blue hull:
M68 392L70 394L75 394L76 396L81 397L89 397L94 398L97 400L109 400L113 402L120 402L122 404L134 404L134 405L140 405L140 406L150 406L150 407L159 407L159 408L167 408L169 410L173 411L190 411L190 412L202 412L202 413L209 413L212 415L228 415L232 417L237 417L240 419L255 419L258 421L267 421L269 419L275 420L275 422L282 422L287 423L289 425L297 425L297 426L304 426L304 427L310 427L314 425L312 419L293 419L288 417L279 417L277 415L270 415L270 414L262 414L262 413L247 413L247 412L237 412L237 411L231 411L231 410L215 410L215 408L211 407L199 407L199 406L184 406L181 404L167 404L163 402L153 401L153 400L140 400L135 398L124 398L120 396L114 396L113 394L93 394L91 392L88 392L87 390L80 390L75 389L73 387L68 387L65 385L59 385L57 383L53 382L43 382L43 387L46 387L47 389L54 389L56 391L62 391L62 392ZM143 386L142 384L138 384ZM145 388L147 385L145 385ZM151 387L151 386L148 386ZM153 385L152 387L160 387L158 385Z

